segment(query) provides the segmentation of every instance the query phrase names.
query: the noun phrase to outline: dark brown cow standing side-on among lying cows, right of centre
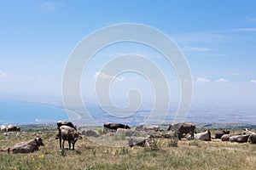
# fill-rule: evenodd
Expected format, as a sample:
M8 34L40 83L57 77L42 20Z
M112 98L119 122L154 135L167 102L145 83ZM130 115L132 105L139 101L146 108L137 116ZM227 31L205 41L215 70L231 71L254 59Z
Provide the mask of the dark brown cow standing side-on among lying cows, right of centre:
M187 134L190 133L191 139L194 139L194 133L195 133L195 124L188 123L188 122L182 122L182 123L176 123L171 124L167 131L175 131L178 133L178 139L182 139L183 133Z

